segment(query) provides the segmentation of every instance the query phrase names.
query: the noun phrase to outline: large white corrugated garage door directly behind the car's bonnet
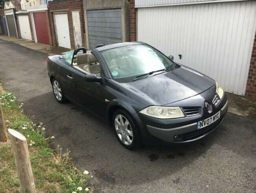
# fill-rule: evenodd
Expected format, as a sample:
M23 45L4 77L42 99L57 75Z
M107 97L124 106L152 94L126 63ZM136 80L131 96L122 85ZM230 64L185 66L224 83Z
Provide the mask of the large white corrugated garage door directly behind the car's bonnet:
M138 8L137 40L244 95L256 30L256 2ZM181 59L178 55L181 55Z

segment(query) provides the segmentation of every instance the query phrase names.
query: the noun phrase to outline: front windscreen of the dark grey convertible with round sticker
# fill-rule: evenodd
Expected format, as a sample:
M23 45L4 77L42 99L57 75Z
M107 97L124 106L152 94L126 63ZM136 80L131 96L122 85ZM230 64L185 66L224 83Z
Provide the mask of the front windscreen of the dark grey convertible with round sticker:
M147 44L124 46L101 52L113 79L120 83L144 74L176 68L173 61ZM145 75L146 77L146 75Z

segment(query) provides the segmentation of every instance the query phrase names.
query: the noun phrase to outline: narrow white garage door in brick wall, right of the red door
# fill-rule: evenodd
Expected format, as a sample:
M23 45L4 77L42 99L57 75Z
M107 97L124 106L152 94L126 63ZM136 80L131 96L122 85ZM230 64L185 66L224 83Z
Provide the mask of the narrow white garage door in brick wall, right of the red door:
M55 14L54 19L59 46L63 48L71 48L67 14Z

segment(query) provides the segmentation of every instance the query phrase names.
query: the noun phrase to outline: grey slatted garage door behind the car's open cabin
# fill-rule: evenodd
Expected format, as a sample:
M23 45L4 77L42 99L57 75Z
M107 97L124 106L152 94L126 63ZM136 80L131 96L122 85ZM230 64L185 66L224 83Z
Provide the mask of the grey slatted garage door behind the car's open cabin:
M87 11L89 47L122 42L121 9Z

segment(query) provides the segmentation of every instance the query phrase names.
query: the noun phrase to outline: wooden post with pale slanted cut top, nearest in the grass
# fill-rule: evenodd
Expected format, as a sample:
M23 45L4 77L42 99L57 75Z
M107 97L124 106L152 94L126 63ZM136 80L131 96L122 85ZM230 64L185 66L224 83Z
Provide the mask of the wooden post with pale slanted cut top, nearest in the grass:
M21 192L35 193L35 182L28 153L27 140L18 131L8 129L8 132L15 157Z

